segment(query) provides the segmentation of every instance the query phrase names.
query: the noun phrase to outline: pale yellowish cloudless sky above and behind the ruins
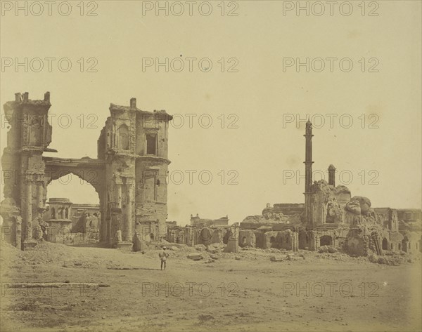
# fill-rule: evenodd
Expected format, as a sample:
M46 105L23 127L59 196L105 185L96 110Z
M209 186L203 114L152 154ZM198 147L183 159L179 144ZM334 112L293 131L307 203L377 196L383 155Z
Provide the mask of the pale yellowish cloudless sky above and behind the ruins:
M361 1L352 1L349 16L338 8L329 15L328 5L323 15L314 15L319 11L314 8L307 16L296 15L295 10L283 15L283 1L232 2L225 3L224 16L220 1L210 3L208 16L197 6L188 15L186 1L181 1L185 12L180 16L174 15L176 6L170 11L171 3L168 16L164 11L143 15L142 6L155 6L155 1L97 1L98 8L86 3L84 16L79 1L72 1L68 16L57 8L49 16L47 5L40 16L32 15L39 11L35 7L28 8L28 16L4 11L1 105L14 100L15 92L28 91L35 100L50 91L50 114L56 116L49 147L58 153L45 155L64 158L96 158L96 142L111 102L129 105L136 97L137 106L147 111L196 114L193 128L184 115L184 126L170 126L169 131L169 171L176 174L173 180L179 180L178 171L185 174L180 185L170 181L168 186L168 220L179 225L188 223L191 213L203 218L229 215L232 223L260 214L267 203L304 201L303 179L283 181L283 174L305 174L304 124L286 124L296 114L300 119L322 114L325 119L324 126L314 128L314 170L326 171L334 164L345 175L343 182L337 175L338 185L348 183L352 174L347 184L352 196L369 197L373 207L421 208L421 2L376 1L378 8L365 8L362 15ZM305 6L306 1L301 3ZM87 16L89 9L98 15ZM202 7L203 13L206 9ZM66 8L61 10L65 13ZM238 15L226 15L231 10ZM369 16L371 10L378 16ZM15 59L25 58L27 72L25 66L15 69ZM57 60L51 72L47 60L37 72L40 62L34 58ZM58 69L61 58L70 59L69 72ZM89 58L96 60L88 62ZM164 66L156 72L154 65L143 68L146 58L168 58L172 66L168 72ZM197 59L192 60L191 72L186 58ZM201 68L209 72L198 67L203 58L212 62L211 69L202 62ZM297 72L294 64L283 70L283 63L291 63L288 58L309 58L309 72L305 66ZM338 59L333 60L332 72L327 58ZM342 70L343 58L350 60L342 62ZM185 67L177 72L181 61ZM353 68L345 72L350 62ZM65 69L66 62L60 63ZM321 63L326 67L318 72ZM90 65L97 72L87 72ZM3 109L1 114L3 150ZM210 128L198 124L201 114L209 114L201 119L206 126L211 118ZM72 119L68 128L60 128L60 115L63 125ZM349 119L352 126L344 128ZM234 120L238 128L227 128ZM314 120L319 124L321 117ZM89 123L97 128L88 128ZM371 124L378 128L369 128ZM186 170L196 171L193 184ZM212 174L209 185L198 180L204 170ZM234 175L238 184L228 185ZM98 203L94 189L80 185L76 177L69 185L49 185L49 197Z

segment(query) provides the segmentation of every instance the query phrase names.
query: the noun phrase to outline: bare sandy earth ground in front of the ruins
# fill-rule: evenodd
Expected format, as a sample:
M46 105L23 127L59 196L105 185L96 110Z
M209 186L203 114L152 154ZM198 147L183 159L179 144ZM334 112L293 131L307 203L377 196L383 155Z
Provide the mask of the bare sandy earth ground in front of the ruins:
M155 247L3 244L1 331L421 331L418 258L391 266L300 251L272 262L285 255L172 249L161 271Z

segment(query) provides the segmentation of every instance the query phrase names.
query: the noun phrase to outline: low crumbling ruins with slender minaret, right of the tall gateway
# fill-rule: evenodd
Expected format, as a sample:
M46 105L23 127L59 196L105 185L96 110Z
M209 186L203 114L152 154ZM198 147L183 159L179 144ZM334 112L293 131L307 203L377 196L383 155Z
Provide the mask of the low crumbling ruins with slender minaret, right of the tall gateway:
M328 182L312 181L312 124L305 129L305 203L267 204L261 215L240 223L238 246L317 251L341 248L351 255L383 255L385 251L421 251L421 210L371 208L366 197L352 197L335 186L335 166L328 166ZM192 217L191 217L192 220ZM200 225L201 226L201 225ZM168 227L167 240L195 244L227 244L229 226ZM215 234L223 234L217 237ZM210 234L204 237L203 234Z

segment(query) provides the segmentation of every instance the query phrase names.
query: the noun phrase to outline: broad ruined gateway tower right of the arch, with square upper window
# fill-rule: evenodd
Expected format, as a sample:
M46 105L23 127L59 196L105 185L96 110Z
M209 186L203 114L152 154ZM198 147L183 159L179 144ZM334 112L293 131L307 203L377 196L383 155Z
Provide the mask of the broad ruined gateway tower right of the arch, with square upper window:
M165 111L110 105L110 117L98 139L98 159L106 161L106 192L100 197L106 215L101 241L132 246L136 233L145 241L165 237L167 218L168 127ZM121 239L116 238L121 237Z

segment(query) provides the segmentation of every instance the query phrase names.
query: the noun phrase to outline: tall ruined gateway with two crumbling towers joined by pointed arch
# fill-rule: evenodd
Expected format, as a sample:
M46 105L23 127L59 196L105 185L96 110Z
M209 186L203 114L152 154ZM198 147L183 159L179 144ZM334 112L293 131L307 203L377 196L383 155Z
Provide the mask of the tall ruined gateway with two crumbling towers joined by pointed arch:
M45 211L46 187L69 173L89 182L101 208L100 241L110 247L132 246L134 232L143 237L165 236L167 218L168 126L165 111L146 112L110 105L110 117L98 138L98 159L44 157L49 149L50 93L30 100L15 93L4 105L10 129L1 157L4 201L2 236L18 248L37 244ZM161 180L160 180L161 178Z

